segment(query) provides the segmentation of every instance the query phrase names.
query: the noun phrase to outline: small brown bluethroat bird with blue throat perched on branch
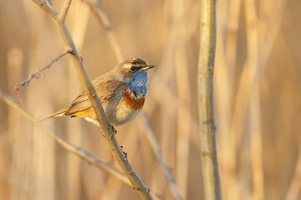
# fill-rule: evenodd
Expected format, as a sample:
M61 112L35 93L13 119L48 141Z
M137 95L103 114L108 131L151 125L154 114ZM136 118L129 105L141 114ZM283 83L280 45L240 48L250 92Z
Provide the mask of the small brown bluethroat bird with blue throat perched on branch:
M92 80L111 125L127 123L141 111L147 94L147 69L154 66L147 65L140 58L130 58ZM69 105L40 121L56 116L81 116L99 125L85 92L82 92Z

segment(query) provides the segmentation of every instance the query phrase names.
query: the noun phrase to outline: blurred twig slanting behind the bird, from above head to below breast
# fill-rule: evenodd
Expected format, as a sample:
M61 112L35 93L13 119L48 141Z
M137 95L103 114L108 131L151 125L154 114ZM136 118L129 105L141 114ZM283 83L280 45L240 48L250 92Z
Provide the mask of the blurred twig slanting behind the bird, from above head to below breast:
M110 44L114 50L117 61L121 62L123 60L123 55L120 50L121 49L120 45L117 42L117 39L116 39L115 33L112 29L109 18L107 16L106 12L104 11L104 9L102 8L100 2L98 1L97 5L94 5L87 0L82 0L82 1L84 1L90 7L91 11L95 14L99 23L103 24L104 28L107 30L107 35L108 35ZM181 193L176 185L175 178L162 154L160 144L159 144L158 140L156 139L153 128L152 128L152 126L150 126L149 119L143 110L141 111L140 116L141 116L142 121L146 128L147 139L148 139L150 145L152 146L152 149L153 149L158 161L160 162L160 164L163 167L163 170L166 175L166 178L167 178L167 181L168 181L168 184L169 184L172 194L174 195L174 197L176 199L179 199L179 200L183 199L183 197L181 196Z

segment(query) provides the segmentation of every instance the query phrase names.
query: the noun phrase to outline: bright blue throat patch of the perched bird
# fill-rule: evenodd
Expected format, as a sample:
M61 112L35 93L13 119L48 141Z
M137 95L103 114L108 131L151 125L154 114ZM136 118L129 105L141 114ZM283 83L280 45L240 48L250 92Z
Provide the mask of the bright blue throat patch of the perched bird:
M147 94L147 82L147 71L137 71L127 83L127 86L136 97L140 97Z

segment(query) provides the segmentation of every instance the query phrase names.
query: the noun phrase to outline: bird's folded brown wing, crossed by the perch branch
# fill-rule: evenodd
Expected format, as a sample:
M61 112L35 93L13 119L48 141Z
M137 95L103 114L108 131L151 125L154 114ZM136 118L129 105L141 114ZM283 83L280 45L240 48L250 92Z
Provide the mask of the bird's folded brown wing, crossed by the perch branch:
M124 85L123 82L117 80L104 80L101 77L94 79L92 83L101 103L105 103L116 96L116 91L118 90L118 88ZM64 115L73 115L77 112L89 109L92 106L86 93L82 92L71 104L67 105L66 107L68 107L69 109L66 110Z

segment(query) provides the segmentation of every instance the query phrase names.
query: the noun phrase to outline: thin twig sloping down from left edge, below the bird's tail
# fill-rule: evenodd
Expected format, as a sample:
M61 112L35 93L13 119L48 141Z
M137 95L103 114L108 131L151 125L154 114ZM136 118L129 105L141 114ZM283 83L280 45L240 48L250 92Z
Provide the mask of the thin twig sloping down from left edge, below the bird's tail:
M51 128L45 125L42 125L41 123L36 123L36 120L33 117L33 115L26 111L16 99L4 92L2 89L0 89L0 98L2 98L6 104L16 109L22 116L31 121L35 126L46 130L47 134L54 138L63 148L86 160L89 164L94 165L97 168L112 174L117 179L121 180L123 183L131 186L130 181L121 170L114 167L110 162L104 161L101 158L94 155L93 153L85 150L84 148L71 143L61 133L52 130ZM152 191L152 193L154 193L154 195L156 195L157 198L164 199L162 195L154 191Z

